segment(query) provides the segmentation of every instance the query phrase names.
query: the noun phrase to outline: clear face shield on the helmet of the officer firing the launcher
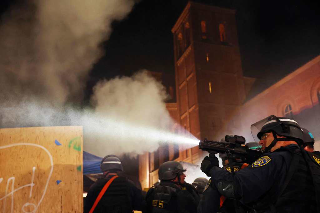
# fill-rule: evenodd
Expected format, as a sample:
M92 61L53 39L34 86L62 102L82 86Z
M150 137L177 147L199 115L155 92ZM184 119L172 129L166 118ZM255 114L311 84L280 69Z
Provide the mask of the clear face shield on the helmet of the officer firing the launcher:
M275 115L270 115L258 122L255 122L251 125L251 134L254 139L254 141L258 144L261 138L261 135L258 137L259 132L269 132L272 127L281 125L281 121L279 118ZM263 128L262 128L263 127ZM268 128L266 128L268 127ZM258 146L258 145L257 145Z

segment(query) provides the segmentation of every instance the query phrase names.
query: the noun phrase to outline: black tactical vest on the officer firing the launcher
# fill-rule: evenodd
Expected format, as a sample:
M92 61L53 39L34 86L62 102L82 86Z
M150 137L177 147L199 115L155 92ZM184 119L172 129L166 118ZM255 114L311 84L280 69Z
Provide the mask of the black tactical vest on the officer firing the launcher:
M320 183L320 175L316 178L317 180L311 175L310 170L313 169L310 165L314 163L310 160L310 164L308 163L306 159L307 155L307 152L302 149L297 149L292 154L292 160L284 184L280 189L276 190L275 194L268 193L264 199L261 199L254 206L254 209L258 210L258 212L264 212L269 209L273 213L317 212L315 191L319 190L319 187L318 189L314 189L313 182ZM320 165L318 168L320 170Z

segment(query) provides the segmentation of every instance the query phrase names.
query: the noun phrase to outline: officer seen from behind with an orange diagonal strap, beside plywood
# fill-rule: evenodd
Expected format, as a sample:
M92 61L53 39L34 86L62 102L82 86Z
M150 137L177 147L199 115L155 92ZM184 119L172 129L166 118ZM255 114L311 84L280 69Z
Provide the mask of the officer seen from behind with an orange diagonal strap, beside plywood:
M84 202L84 213L132 213L133 210L145 210L146 201L141 190L132 181L117 175L123 168L116 155L105 156L100 168L103 175L90 187Z

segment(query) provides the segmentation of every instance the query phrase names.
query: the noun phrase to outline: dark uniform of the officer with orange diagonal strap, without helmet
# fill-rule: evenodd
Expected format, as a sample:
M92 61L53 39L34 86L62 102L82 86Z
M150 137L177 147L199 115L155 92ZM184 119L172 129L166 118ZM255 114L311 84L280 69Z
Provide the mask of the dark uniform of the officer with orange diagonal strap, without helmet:
M114 175L98 179L89 189L84 202L84 213L92 208L94 201L108 180ZM125 177L117 177L109 185L102 196L95 213L132 213L132 210L145 210L146 201L143 199L141 190Z

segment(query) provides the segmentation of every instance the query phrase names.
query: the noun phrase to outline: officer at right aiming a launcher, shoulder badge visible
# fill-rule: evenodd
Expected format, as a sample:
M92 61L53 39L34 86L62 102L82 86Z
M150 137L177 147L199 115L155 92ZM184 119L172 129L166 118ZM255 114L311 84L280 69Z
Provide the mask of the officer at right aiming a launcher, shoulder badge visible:
M303 135L298 123L271 115L251 129L264 154L234 174L219 168L217 158L205 157L201 170L212 184L252 212L320 212L320 159L300 149Z

